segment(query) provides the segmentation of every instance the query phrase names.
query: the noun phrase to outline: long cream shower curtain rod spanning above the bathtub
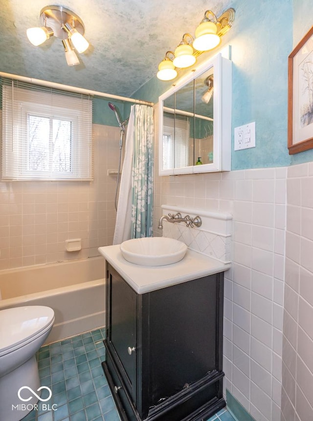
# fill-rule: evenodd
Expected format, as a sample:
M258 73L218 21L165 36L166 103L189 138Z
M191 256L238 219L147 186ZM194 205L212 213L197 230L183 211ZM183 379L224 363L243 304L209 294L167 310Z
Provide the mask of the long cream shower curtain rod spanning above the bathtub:
M134 98L121 97L119 95L106 94L104 92L92 91L92 90L89 90L89 89L78 88L76 86L57 84L55 82L42 81L40 79L28 78L26 76L12 75L11 73L0 72L0 76L2 76L4 78L17 79L21 82L29 82L31 84L47 86L47 87L50 87L50 88L67 89L67 90L70 90L71 92L77 92L77 93L80 93L80 94L95 95L95 96L98 96L98 97L103 97L103 98L108 98L108 99L115 99L115 100L120 100L120 101L131 102L131 103L134 103L134 104L150 105L150 106L154 105L154 103L149 102L149 101L142 101L142 100L137 100L137 99L134 99Z

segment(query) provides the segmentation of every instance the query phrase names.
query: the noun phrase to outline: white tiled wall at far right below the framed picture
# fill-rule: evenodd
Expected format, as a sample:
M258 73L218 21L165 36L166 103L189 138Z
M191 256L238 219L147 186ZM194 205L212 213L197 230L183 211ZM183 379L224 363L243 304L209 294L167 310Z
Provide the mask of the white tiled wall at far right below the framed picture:
M287 176L282 421L313 417L313 165Z

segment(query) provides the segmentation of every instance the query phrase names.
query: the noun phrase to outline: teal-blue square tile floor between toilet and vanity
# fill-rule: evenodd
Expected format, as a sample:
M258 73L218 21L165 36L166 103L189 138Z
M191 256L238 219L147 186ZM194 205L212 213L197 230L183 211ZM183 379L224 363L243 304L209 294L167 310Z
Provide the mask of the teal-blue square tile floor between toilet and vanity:
M52 396L22 421L120 421L101 366L104 335L104 329L97 329L40 348L41 385ZM49 396L47 389L42 392L42 398ZM222 409L207 421L234 419Z

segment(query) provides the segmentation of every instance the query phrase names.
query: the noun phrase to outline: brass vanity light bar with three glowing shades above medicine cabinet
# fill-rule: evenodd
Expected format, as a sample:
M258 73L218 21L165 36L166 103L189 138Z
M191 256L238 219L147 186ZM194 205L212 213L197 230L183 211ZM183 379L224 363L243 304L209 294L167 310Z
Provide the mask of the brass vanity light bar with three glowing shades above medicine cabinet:
M218 18L211 10L206 10L204 18L196 28L195 39L190 34L185 33L175 53L167 51L167 53L173 54L174 59L172 61L172 59L166 58L167 53L165 54L165 59L158 65L159 71L156 74L157 78L163 81L176 78L179 68L192 66L200 54L217 47L221 43L221 37L232 27L234 18L235 9L232 7L225 10ZM192 44L187 41L188 37L192 41ZM166 64L164 63L165 61L167 62ZM163 74L165 74L161 72L163 66L171 70L171 77L168 79L162 79Z

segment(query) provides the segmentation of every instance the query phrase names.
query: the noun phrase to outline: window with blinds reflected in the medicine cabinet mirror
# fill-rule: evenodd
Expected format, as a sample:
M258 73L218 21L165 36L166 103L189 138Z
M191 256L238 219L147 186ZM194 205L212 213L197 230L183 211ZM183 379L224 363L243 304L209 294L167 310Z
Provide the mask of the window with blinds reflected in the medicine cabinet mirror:
M162 168L187 167L189 164L189 118L178 114L163 115Z

